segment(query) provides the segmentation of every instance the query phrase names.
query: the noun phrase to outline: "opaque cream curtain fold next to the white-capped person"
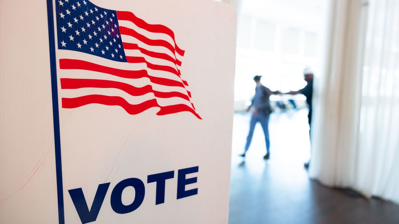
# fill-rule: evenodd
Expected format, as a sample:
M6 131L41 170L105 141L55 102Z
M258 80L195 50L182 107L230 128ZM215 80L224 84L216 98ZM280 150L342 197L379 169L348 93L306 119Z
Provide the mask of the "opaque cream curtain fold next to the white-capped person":
M310 177L328 186L349 187L356 175L362 38L361 0L332 0L324 71L315 82Z

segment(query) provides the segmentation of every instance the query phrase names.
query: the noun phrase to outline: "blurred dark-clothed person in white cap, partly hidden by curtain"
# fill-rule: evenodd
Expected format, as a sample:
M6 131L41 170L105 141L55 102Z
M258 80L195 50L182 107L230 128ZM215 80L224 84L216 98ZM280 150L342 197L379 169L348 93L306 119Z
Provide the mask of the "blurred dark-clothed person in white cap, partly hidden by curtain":
M311 128L312 128L312 96L313 96L313 72L310 67L307 67L303 71L304 75L304 80L306 81L306 86L300 90L297 91L290 91L290 92L285 92L283 94L303 94L306 96L306 103L308 104L309 112L308 112L308 123L309 123L309 138L310 138L310 133L311 133ZM309 162L305 163L304 166L306 168L309 167Z

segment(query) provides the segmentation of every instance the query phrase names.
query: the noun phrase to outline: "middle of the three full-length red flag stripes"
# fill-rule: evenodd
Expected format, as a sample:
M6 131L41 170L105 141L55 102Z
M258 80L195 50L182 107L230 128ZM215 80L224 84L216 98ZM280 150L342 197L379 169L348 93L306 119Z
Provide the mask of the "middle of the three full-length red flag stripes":
M147 93L154 93L155 97L159 98L170 98L170 97L180 97L185 100L190 101L186 94L181 92L159 92L152 89L152 86L146 85L143 87L135 87L126 83L120 83L110 80L102 79L61 79L62 89L77 89L77 88L117 88L123 90L124 92L132 96L142 96Z

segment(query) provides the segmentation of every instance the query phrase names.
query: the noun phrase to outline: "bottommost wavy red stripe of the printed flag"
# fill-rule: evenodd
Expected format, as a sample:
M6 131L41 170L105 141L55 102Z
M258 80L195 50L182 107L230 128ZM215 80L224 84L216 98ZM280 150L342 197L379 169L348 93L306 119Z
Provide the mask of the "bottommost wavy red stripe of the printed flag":
M139 114L152 107L160 108L157 115L175 114L188 111L194 114L198 119L202 119L192 108L185 104L176 104L171 106L160 106L156 99L148 100L140 104L129 104L124 98L119 96L87 95L76 98L62 98L62 108L78 108L87 104L103 104L109 106L120 106L129 114Z

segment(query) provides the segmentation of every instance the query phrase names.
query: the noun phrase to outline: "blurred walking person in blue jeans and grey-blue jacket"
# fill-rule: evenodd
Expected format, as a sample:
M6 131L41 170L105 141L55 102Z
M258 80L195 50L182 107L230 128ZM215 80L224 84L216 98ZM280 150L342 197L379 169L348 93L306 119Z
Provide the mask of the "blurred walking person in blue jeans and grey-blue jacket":
M245 151L240 156L245 157L245 153L249 149L249 145L251 145L253 131L255 130L255 125L257 122L261 123L263 133L265 134L265 141L266 141L266 155L263 157L264 159L269 159L270 157L270 139L269 139L269 116L272 112L272 108L270 106L270 95L271 94L279 94L278 91L271 91L269 88L264 86L261 83L261 77L256 75L253 80L256 83L255 88L255 96L252 99L251 105L246 110L249 112L251 108L252 116L251 121L249 122L249 133L247 137L247 143L245 144Z

